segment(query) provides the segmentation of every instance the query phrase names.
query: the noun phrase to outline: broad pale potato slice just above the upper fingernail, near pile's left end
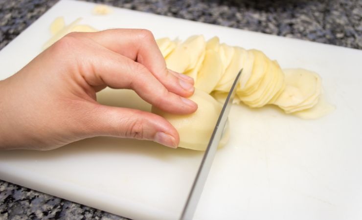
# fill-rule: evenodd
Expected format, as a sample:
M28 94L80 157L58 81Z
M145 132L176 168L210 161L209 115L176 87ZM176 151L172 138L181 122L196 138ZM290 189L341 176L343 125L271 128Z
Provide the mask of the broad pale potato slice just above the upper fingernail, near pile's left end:
M189 37L166 57L167 68L184 73L195 68L205 50L205 39L202 35Z

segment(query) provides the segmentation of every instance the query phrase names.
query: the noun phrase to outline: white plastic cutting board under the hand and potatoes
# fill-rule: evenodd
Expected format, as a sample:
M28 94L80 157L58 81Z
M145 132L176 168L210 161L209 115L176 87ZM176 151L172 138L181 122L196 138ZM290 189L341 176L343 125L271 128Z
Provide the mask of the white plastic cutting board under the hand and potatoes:
M216 154L194 219L362 218L361 50L118 8L95 16L93 7L57 3L0 51L0 79L41 52L58 16L67 23L83 17L81 23L99 30L147 28L156 38L217 35L230 45L260 49L284 68L318 72L337 109L302 120L272 107L232 106L230 141ZM112 105L150 108L129 90L100 96ZM98 137L49 152L0 152L0 179L132 219L170 220L179 218L202 156L148 141Z

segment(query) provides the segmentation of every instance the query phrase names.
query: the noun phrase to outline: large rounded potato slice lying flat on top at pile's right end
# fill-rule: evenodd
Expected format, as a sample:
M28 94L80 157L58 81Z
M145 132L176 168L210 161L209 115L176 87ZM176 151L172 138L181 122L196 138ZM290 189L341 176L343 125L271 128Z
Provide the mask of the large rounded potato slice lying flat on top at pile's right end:
M288 113L310 108L321 92L317 73L305 69L284 69L286 87L273 102ZM303 107L304 108L299 108Z

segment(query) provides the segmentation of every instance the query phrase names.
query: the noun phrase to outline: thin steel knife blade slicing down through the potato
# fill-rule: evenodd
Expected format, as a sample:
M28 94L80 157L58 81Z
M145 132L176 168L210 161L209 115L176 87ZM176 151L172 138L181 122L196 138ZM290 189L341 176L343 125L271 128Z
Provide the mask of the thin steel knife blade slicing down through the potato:
M207 175L210 171L212 161L215 157L216 149L224 132L227 116L229 115L232 100L235 96L235 88L237 83L239 82L242 71L243 69L241 69L237 74L234 83L232 84L231 89L227 95L223 109L221 110L219 118L216 122L214 131L211 134L210 141L207 145L203 160L201 161L199 170L192 184L191 191L188 195L185 206L183 207L180 220L191 220L194 216L197 204L201 197L201 193L203 192Z

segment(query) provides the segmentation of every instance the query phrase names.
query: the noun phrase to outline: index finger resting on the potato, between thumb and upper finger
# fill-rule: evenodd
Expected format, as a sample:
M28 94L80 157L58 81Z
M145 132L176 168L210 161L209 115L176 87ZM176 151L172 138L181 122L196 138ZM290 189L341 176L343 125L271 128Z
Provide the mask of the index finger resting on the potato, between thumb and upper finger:
M189 114L197 109L193 101L167 90L145 66L99 46L87 46L79 51L81 74L93 87L131 88L145 101L176 114ZM77 52L77 51L75 51ZM88 54L85 58L83 53ZM177 78L177 77L175 77Z

